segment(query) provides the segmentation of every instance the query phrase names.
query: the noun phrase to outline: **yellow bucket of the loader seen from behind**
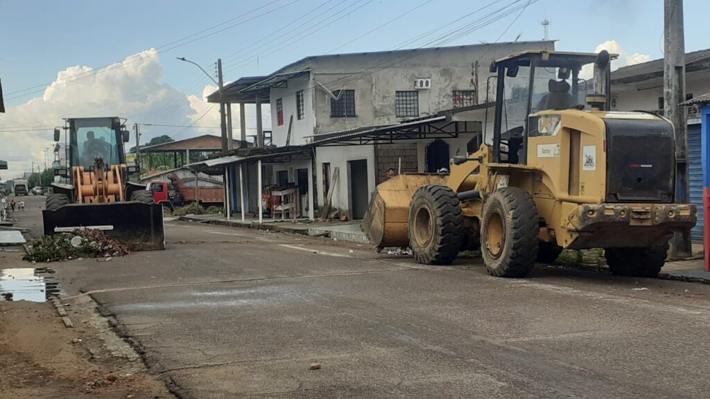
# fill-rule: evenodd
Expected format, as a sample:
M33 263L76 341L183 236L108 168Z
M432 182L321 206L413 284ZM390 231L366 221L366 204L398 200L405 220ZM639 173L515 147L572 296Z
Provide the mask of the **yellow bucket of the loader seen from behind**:
M425 185L445 185L446 176L405 173L380 183L360 228L374 246L409 245L409 206L414 192Z

